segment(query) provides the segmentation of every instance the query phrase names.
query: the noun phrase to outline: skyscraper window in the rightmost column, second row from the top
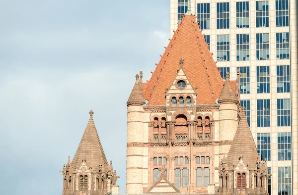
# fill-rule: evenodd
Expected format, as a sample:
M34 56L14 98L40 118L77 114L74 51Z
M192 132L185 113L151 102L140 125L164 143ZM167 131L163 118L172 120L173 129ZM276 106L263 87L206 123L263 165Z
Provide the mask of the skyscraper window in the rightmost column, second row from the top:
M276 33L276 59L290 59L289 33Z

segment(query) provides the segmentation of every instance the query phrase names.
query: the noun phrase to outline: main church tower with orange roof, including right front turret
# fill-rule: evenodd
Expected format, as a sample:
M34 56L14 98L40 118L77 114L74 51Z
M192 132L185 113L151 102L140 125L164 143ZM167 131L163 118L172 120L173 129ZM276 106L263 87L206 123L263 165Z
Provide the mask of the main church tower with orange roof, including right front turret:
M240 106L186 14L149 81L127 101L127 194L267 195L270 174Z

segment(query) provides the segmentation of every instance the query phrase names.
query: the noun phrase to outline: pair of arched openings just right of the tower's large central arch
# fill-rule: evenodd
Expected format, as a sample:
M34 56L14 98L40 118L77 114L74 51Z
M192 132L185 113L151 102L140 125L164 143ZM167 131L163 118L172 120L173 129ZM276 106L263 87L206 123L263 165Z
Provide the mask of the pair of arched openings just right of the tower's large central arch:
M197 124L198 124L198 140L199 141L209 141L211 139L211 122L210 117L206 116L205 118L202 118L202 116L198 116L197 118Z

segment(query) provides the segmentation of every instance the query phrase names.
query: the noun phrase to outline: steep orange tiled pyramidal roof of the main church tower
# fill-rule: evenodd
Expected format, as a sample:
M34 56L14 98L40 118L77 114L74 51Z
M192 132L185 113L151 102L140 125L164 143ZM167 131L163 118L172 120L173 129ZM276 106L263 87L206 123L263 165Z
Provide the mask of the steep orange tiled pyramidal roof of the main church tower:
M148 105L164 105L165 88L169 88L179 70L179 59L184 59L183 70L190 83L198 88L198 104L214 104L223 89L223 79L213 60L194 15L185 15L168 47L161 56L144 97Z

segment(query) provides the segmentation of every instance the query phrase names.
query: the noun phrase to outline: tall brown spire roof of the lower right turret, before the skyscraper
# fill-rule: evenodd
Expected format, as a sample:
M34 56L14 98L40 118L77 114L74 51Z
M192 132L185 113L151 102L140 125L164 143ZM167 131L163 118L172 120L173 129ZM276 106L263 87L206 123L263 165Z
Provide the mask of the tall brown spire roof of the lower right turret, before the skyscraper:
M246 120L244 107L237 131L226 157L226 164L228 166L237 165L240 157L245 165L249 164L250 168L254 169L253 165L257 162L258 151Z

